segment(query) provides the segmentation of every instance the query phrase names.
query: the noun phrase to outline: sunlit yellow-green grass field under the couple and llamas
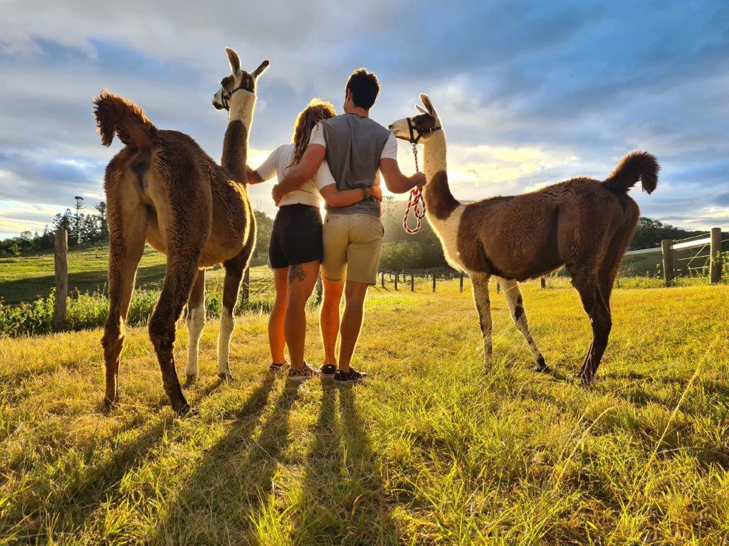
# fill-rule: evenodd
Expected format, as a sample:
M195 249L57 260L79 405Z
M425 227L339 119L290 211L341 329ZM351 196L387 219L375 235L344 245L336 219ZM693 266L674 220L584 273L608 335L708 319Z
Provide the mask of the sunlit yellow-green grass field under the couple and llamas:
M729 540L729 288L616 290L593 389L570 288L523 288L553 374L492 297L494 356L457 280L376 289L351 389L265 373L265 314L232 369L200 343L177 419L144 328L101 412L101 331L0 339L0 544L719 545ZM409 287L408 287L409 288ZM321 362L315 310L307 356ZM176 356L184 373L187 331Z

